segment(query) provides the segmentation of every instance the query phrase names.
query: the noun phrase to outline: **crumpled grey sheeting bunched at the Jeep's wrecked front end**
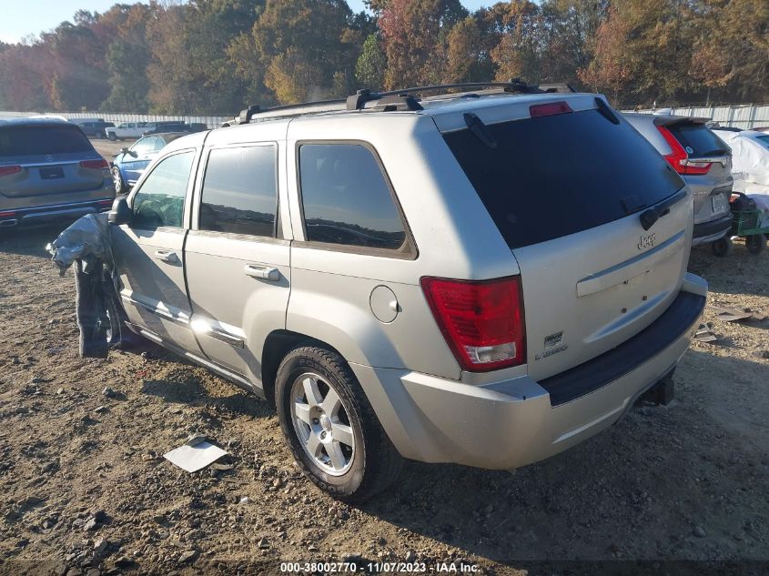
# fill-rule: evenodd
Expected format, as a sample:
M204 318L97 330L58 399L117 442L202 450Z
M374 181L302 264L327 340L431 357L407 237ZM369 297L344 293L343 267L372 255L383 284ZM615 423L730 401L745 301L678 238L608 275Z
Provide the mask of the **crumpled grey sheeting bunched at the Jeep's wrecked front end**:
M85 272L96 262L104 262L112 268L114 258L106 216L106 212L102 212L78 218L47 246L60 274L63 275L76 260L83 260Z

